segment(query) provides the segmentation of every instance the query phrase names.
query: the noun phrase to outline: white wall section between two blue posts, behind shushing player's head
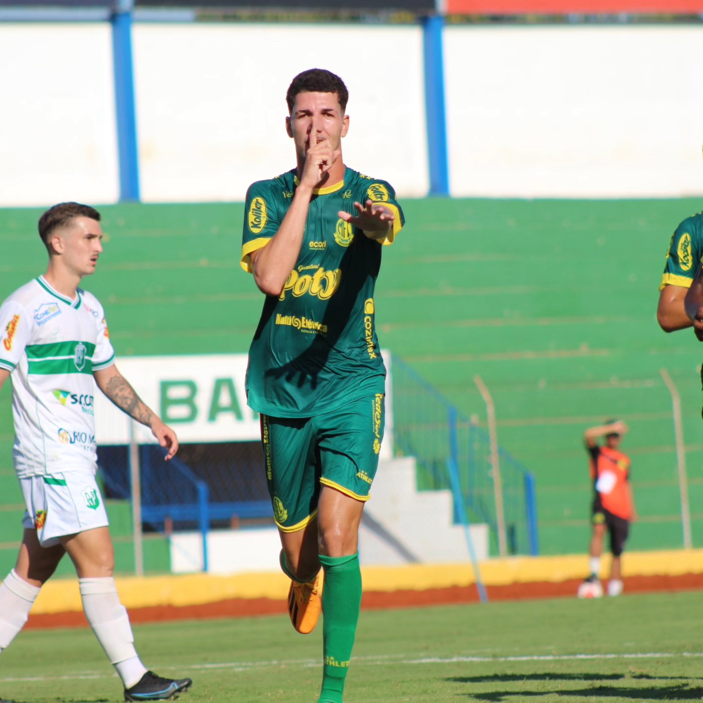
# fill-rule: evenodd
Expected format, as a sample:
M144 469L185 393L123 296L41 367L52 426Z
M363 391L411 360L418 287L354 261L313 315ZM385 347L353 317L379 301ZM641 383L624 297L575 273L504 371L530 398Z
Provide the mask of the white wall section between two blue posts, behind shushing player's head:
M312 67L349 88L345 162L427 193L419 27L143 24L134 60L143 200L244 200L252 181L294 167L285 93Z

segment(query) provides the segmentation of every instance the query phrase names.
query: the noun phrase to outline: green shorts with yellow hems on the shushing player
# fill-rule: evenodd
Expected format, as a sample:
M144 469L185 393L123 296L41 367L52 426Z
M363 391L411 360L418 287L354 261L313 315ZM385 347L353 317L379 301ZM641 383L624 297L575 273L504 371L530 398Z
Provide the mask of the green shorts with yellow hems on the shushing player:
M352 401L312 418L262 415L262 444L273 517L284 532L317 515L321 486L368 501L385 427L385 396Z

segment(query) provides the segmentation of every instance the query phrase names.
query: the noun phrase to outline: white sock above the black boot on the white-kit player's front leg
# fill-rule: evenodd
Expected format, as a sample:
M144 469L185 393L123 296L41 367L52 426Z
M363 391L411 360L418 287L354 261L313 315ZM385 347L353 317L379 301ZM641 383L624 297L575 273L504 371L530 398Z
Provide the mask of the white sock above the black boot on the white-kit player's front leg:
M110 664L115 666L124 683L131 688L146 673L134 649L134 635L127 609L117 595L115 579L78 579L83 612Z

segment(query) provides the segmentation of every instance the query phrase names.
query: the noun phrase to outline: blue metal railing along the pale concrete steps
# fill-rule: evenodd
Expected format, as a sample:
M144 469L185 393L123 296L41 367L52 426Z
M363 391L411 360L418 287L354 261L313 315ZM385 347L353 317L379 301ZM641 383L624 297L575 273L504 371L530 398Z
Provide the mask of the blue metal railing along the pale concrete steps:
M451 490L454 522L489 526L498 552L496 486L489 434L453 406L413 368L392 358L396 451L414 456L418 489ZM539 553L534 476L502 447L498 451L510 554Z

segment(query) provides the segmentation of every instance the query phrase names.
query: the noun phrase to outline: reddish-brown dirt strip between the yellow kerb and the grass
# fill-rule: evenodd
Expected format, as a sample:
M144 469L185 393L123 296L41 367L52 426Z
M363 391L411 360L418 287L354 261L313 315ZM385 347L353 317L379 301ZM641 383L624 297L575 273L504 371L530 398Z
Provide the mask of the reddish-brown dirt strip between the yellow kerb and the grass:
M534 600L536 598L574 597L579 588L578 579L559 583L510 583L508 586L488 586L489 600ZM625 593L667 593L673 591L695 591L703 588L703 574L683 576L631 576L624 579ZM430 591L378 591L363 594L363 610L391 610L394 608L423 607L429 605L456 605L478 602L475 586L463 588L435 588ZM227 617L256 617L285 613L285 600L271 598L237 598L221 600L203 605L185 607L157 606L130 608L129 618L133 623L217 619ZM87 627L82 612L65 612L32 615L28 628Z

